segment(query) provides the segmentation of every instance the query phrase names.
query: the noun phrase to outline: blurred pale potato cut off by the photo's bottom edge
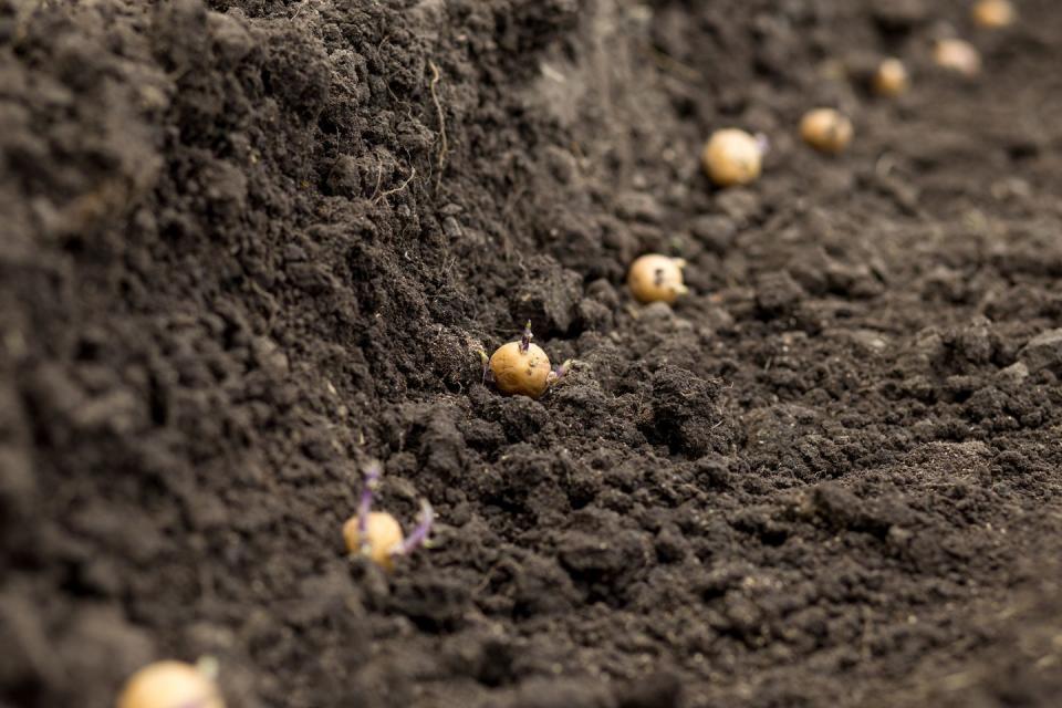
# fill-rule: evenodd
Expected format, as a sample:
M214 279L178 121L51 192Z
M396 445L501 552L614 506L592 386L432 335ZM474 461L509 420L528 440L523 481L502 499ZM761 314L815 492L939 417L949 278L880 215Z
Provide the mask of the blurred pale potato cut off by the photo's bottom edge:
M225 708L217 685L190 664L156 662L129 677L117 708Z

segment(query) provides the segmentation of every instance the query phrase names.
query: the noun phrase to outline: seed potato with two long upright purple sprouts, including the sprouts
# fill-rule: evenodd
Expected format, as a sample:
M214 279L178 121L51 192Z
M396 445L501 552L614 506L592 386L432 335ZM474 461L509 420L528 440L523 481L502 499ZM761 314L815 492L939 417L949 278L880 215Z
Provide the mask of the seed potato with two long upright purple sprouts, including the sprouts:
M365 486L357 513L343 524L343 540L350 553L361 553L386 571L394 570L397 556L409 555L427 542L435 512L427 501L420 502L420 522L409 538L402 533L398 521L385 511L373 511L373 496L379 487L379 462L365 468Z

